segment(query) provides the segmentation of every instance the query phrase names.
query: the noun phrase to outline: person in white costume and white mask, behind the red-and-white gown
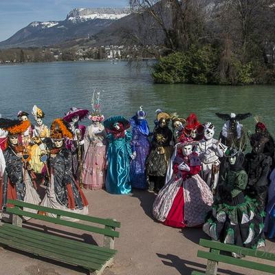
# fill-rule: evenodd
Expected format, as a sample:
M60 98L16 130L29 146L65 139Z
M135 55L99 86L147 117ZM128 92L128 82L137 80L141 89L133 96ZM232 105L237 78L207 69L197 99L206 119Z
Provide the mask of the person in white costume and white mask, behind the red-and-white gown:
M201 178L214 193L219 179L219 158L224 157L227 146L213 137L214 125L208 122L204 124L203 139L197 144L195 151L201 159Z

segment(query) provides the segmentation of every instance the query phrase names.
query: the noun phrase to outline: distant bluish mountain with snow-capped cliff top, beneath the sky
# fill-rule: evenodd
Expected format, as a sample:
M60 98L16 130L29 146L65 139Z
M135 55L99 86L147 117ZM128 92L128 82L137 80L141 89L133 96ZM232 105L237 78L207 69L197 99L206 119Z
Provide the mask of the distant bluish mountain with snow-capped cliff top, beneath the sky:
M63 21L30 23L9 39L0 42L0 48L41 47L91 37L129 14L129 9L75 8Z

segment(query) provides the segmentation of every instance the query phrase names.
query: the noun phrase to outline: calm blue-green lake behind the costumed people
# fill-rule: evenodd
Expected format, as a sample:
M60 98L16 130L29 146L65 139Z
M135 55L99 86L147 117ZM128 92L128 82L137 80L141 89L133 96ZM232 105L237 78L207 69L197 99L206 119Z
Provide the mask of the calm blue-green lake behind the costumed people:
M0 113L16 118L19 110L31 114L36 104L45 112L44 122L50 124L70 107L91 109L94 88L104 90L105 118L111 115L130 118L143 105L153 126L156 109L177 111L184 118L195 112L200 122L215 124L217 136L223 122L214 113L251 112L261 115L275 135L275 86L154 85L148 67L137 70L126 61L1 65ZM32 115L30 118L33 121ZM253 118L243 124L254 131Z

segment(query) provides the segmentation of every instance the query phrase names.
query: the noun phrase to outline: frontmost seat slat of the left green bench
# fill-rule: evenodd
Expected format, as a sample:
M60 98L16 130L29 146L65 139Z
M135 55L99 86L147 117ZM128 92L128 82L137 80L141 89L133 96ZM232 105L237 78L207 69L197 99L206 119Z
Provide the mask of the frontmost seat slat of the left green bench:
M91 263L91 262L87 262L87 261L81 261L78 259L74 259L72 257L69 256L64 256L61 254L58 254L54 251L45 251L43 248L33 248L30 247L30 245L24 245L22 243L17 243L16 241L12 241L12 240L7 240L7 239L2 239L0 238L0 243L2 243L3 245L8 245L11 248L16 248L18 250L23 250L25 252L30 252L31 254L36 254L39 256L44 256L47 257L49 259L54 259L54 260L58 260L58 261L63 261L65 263L69 263L72 265L78 265L81 267L85 267L88 270L100 270L102 265L98 265L95 263Z

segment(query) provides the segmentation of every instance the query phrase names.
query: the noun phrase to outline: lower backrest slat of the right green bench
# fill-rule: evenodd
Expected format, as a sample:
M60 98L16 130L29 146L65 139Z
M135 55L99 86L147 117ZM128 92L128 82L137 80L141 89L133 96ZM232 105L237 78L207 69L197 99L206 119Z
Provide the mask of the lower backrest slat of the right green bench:
M253 261L246 261L243 259L235 259L230 256L224 256L224 255L218 255L211 252L205 252L199 250L197 252L197 256L199 258L203 259L209 259L212 261L222 262L222 263L228 263L230 265L237 265L240 267L247 267L251 270L259 270L263 272L270 272L272 274L275 274L275 266L272 265L265 265L262 263L255 263Z

